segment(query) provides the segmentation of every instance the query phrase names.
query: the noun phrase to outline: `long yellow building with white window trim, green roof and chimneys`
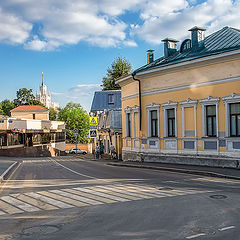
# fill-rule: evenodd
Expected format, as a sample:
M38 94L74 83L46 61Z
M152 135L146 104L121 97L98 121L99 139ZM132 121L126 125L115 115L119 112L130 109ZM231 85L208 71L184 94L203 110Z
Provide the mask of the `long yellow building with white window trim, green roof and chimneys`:
M180 49L164 39L163 57L154 60L149 50L147 65L117 81L123 160L238 167L219 156L240 153L240 31L225 27L207 37L203 28L189 31Z

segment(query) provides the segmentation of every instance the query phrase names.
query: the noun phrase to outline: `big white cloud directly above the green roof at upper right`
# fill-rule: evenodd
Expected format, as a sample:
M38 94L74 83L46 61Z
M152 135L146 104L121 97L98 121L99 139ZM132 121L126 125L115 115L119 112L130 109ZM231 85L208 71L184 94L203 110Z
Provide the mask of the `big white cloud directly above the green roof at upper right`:
M151 10L157 2L164 3L164 7ZM160 44L166 37L183 40L189 36L187 30L195 25L206 27L207 34L227 25L239 28L239 11L239 0L208 0L195 6L189 6L184 0L150 1L141 14L144 23L132 27L131 36L135 34L149 43Z

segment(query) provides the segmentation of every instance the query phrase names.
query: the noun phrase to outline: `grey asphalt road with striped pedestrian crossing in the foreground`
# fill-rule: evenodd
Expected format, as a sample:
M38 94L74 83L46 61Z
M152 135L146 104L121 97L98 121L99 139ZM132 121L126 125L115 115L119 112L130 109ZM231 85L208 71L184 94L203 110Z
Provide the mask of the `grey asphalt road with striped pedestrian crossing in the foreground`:
M240 182L23 159L0 193L0 240L240 240Z

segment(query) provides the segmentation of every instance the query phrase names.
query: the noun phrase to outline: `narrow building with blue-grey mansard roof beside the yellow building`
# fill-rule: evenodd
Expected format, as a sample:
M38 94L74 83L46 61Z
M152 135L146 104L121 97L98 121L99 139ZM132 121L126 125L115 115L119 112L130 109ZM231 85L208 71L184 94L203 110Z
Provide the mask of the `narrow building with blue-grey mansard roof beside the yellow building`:
M98 143L104 145L104 152L109 154L111 146L114 147L118 158L122 154L122 110L121 91L97 91L94 94L91 115L98 117Z

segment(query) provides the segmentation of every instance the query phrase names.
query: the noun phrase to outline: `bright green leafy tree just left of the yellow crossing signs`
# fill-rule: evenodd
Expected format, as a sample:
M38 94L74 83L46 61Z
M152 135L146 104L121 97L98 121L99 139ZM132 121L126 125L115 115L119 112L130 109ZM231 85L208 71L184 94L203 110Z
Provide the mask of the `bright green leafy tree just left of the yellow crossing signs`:
M74 137L74 129L78 129L78 142L87 143L89 116L82 106L77 103L70 102L63 109L60 109L58 119L66 123L67 141L70 143L76 142Z

